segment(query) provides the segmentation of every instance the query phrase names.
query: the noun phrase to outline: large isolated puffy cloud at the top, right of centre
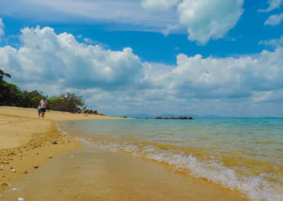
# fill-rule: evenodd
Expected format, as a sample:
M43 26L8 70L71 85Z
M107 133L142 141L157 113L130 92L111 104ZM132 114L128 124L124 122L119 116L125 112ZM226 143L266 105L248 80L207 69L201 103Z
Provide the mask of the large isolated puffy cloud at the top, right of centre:
M201 44L224 38L243 13L243 0L183 0L178 4L180 24L187 26L189 40Z

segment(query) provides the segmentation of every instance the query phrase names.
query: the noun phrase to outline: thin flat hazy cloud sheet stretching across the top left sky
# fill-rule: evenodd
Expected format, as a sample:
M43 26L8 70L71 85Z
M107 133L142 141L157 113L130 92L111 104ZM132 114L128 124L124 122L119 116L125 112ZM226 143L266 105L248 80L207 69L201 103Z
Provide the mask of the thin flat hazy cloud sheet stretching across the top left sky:
M37 21L110 22L110 27L126 30L161 32L168 24L178 23L174 12L146 12L137 0L10 0L0 1L0 8L0 16L17 16L29 21L34 21L36 16Z

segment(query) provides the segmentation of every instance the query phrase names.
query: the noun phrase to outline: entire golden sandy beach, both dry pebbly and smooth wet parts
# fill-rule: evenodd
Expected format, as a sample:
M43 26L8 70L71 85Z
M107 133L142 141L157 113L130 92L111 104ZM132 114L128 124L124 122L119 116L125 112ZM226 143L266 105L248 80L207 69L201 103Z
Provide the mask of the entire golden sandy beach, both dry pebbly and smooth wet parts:
M0 108L1 200L246 200L156 163L88 147L57 130L59 121L112 117L45 116L38 119L35 109Z

